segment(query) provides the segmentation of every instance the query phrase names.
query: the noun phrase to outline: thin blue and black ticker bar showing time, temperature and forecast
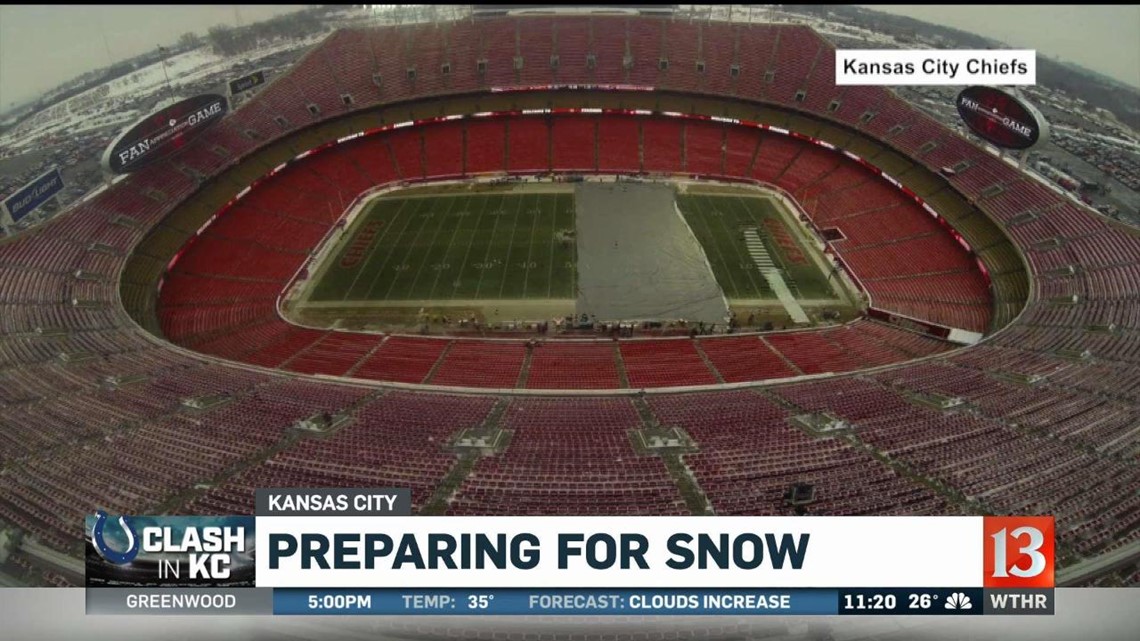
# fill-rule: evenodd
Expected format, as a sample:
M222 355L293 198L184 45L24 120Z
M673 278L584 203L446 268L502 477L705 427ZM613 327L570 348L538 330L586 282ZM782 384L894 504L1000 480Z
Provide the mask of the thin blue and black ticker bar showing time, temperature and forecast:
M275 615L976 615L980 605L980 589L274 590Z

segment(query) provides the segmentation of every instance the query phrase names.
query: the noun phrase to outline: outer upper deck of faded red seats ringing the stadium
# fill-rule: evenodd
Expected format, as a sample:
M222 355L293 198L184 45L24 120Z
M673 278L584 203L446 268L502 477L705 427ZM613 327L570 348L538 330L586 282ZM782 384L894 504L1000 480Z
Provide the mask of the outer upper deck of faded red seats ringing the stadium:
M1137 583L1140 240L889 91L834 87L830 51L795 25L637 17L334 33L172 161L0 244L0 521L78 553L75 524L92 504L234 512L267 484L409 486L429 512L777 513L783 487L808 481L821 513L1054 513L1059 560L1070 568L1062 582L1119 571ZM133 277L146 266L125 274L120 294L135 245L193 194L217 206L218 194L244 186L211 181L222 170L239 167L229 181L270 169L235 164L253 152L294 133L282 154L311 148L356 112L392 117L413 103L489 104L489 92L552 84L653 88L691 96L686 111L698 113L719 108L709 98L779 106L881 141L889 149L871 160L883 169L898 155L933 172L953 168L939 189L961 194L1025 255L1026 308L969 349L869 375L763 392L552 399L385 391L227 365L155 339L127 313L155 300L147 278ZM193 229L184 232L166 235L168 251ZM964 405L943 409L950 397ZM185 407L188 398L206 408ZM343 412L349 424L326 439L288 429L323 412ZM789 422L824 413L854 429L819 439ZM669 460L633 449L627 430L659 424L683 429L697 452ZM513 436L496 456L441 446L472 429ZM674 476L677 461L691 479ZM38 550L25 545L10 563L35 567L32 581L67 583L58 563L42 570L50 555ZM1082 562L1090 559L1097 569Z

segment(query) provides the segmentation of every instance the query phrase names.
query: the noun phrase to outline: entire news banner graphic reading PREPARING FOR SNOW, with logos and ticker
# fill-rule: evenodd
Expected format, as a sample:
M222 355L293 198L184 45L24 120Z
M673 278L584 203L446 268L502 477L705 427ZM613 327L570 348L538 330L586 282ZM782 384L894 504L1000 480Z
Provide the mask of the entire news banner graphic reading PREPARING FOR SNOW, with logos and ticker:
M413 517L406 488L255 506L88 517L88 614L1053 612L1052 517Z

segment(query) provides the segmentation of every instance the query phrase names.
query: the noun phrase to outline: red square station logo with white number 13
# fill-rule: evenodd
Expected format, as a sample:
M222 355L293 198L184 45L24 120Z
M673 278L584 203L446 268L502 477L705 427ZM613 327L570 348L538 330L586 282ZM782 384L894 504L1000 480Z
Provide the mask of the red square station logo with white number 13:
M1053 518L985 517L985 587L1053 586Z

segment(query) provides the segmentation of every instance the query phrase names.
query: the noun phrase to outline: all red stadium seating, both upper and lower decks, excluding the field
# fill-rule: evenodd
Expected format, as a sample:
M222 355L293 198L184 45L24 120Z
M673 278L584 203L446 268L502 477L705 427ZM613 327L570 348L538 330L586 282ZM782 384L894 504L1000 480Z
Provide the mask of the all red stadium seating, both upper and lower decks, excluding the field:
M534 22L523 31L519 23L527 21ZM423 73L400 82L418 48L445 50L426 27L339 31L290 82L268 87L174 160L0 244L0 527L21 535L5 574L78 582L78 524L95 508L241 513L252 505L252 489L269 485L407 486L418 513L771 514L789 513L788 485L809 482L819 497L812 513L1052 513L1062 583L1140 583L1140 240L887 91L832 87L831 46L809 29L527 21L454 25L449 41L472 51L514 42L481 51L490 59L486 80L461 70L446 81ZM563 50L556 71L529 64L504 71L513 68L513 55L548 59L554 39L516 35L555 24L564 29L560 47L609 52L598 56L601 66L578 70ZM578 32L584 38L570 36ZM659 36L635 38L645 33ZM368 54L402 39L408 59ZM620 56L611 59L629 50L657 60L666 42L703 42L706 59L720 60L716 75L708 82L694 75L692 62L685 64L693 51L673 51L668 73L643 70L654 65L622 72ZM767 54L740 59L741 51ZM741 63L747 73L730 84L722 67ZM771 82L759 68L772 71ZM544 79L658 91L486 94ZM351 107L339 89L356 97ZM196 236L237 192L325 141L409 115L551 104L739 117L828 140L925 198L974 248L991 287L977 289L974 255L951 251L959 245L940 225L929 227L931 217L880 219L876 212L904 205L864 170L792 138L649 116L636 128L609 117L504 116L366 136L353 143L382 145L386 163L360 165L353 144L314 154L275 177L290 180L292 196L271 179L238 201L241 216L229 211ZM440 133L432 145L429 130ZM563 136L589 140L589 131L592 146L560 144ZM540 143L531 148L528 140ZM424 179L429 168L433 177L454 178L488 167L747 173L791 194L817 227L841 232L847 240L833 249L872 305L987 338L912 363L905 360L948 343L931 350L934 339L861 320L697 341L548 342L528 352L521 341L360 336L299 328L277 316L282 287L340 214L325 206L329 198ZM937 173L942 167L958 169L947 179ZM251 222L258 218L260 225ZM887 233L897 235L883 240ZM918 253L891 249L911 243ZM187 268L194 260L217 269L195 273ZM894 366L742 389L652 389L841 372L876 354ZM359 379L466 389L290 373L328 362L348 364L341 374ZM563 391L495 391L539 387ZM293 428L325 413L335 417L326 433ZM825 436L811 429L840 422L846 429ZM637 445L662 431L685 447ZM464 446L461 435L494 445Z

